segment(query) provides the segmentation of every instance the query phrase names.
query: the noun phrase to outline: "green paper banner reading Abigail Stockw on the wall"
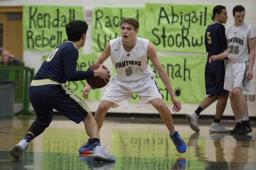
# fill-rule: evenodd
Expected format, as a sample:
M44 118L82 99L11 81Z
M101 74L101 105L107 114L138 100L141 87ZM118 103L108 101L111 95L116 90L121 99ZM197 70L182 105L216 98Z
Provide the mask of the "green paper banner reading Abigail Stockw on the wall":
M146 4L146 34L158 51L206 53L204 33L215 5Z

